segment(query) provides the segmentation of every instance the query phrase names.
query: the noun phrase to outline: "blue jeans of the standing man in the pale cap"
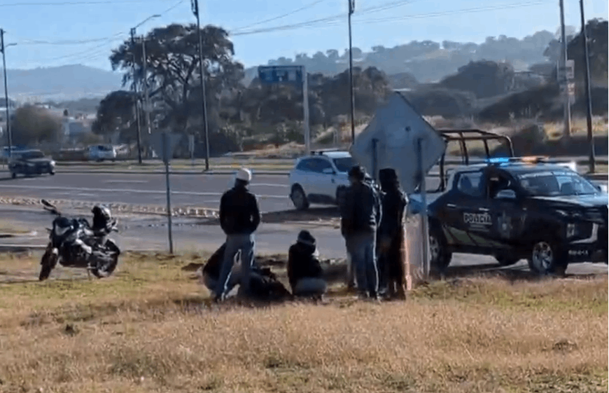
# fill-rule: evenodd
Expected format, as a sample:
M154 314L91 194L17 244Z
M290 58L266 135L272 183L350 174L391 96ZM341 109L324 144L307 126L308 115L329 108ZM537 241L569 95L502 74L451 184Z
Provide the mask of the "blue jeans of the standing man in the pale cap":
M245 291L245 294L249 293L249 279L253 264L254 247L253 234L226 235L226 249L220 269L220 277L218 277L216 298L221 298L226 294L230 280L230 271L235 260L235 254L238 251L241 251L241 288Z

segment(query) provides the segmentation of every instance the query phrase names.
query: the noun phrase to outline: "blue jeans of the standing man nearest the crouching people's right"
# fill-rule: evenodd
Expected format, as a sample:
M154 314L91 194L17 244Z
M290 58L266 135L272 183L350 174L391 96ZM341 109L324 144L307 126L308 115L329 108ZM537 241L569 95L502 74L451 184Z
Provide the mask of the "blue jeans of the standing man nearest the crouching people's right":
M377 295L379 291L376 243L376 233L356 233L350 235L346 242L355 268L358 289L367 291L370 296Z

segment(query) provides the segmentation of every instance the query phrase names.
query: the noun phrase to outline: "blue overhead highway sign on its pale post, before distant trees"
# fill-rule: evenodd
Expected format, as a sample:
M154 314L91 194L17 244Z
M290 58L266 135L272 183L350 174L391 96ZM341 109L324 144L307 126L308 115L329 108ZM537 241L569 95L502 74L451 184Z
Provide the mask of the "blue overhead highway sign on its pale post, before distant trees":
M309 82L304 66L260 66L258 78L261 83L295 83L302 85L302 111L304 123L304 149L311 151L311 130L309 128Z

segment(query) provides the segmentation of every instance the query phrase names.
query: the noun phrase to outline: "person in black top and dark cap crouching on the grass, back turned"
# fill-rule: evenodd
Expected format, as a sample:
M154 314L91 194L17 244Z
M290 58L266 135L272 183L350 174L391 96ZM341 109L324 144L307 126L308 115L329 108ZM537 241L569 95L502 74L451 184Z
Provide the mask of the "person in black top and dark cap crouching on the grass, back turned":
M322 298L328 289L316 251L315 237L301 230L288 251L288 280L294 296Z

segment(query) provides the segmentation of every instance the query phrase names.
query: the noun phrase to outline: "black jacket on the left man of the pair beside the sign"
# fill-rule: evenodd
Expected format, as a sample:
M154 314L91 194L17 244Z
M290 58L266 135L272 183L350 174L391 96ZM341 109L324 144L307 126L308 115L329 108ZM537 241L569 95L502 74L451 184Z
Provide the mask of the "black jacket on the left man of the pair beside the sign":
M379 194L365 182L347 188L340 216L341 232L344 236L376 232L381 221Z

